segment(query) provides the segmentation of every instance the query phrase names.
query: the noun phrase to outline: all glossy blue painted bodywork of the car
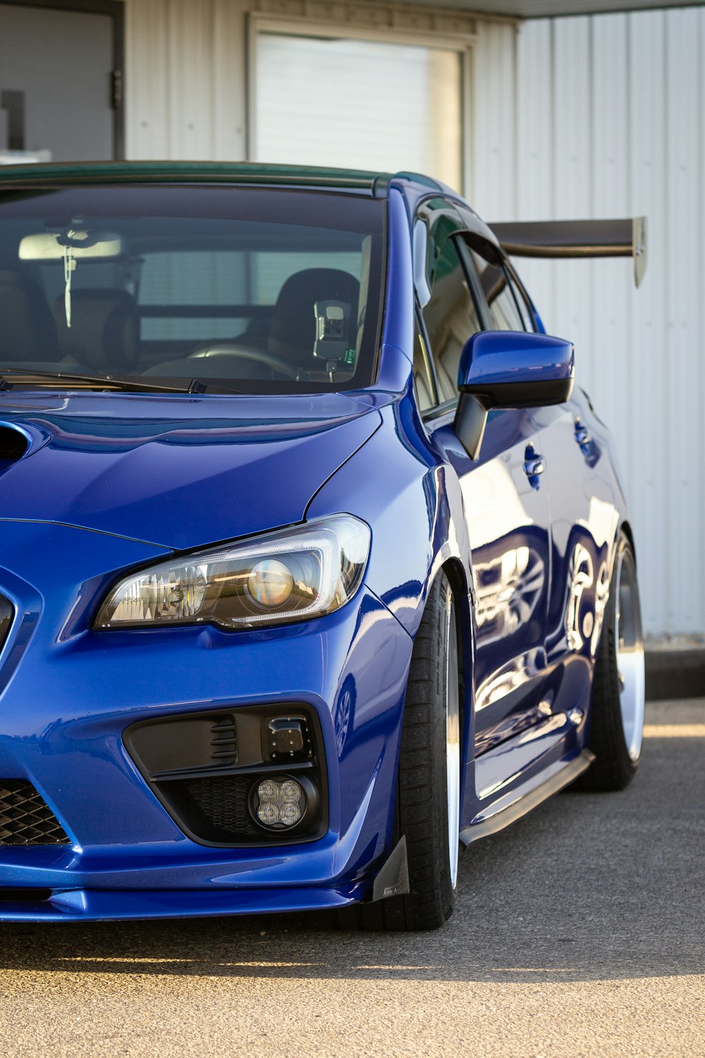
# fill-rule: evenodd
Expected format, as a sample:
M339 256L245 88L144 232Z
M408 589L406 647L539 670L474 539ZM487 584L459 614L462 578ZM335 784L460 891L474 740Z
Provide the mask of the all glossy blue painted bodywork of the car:
M0 918L369 898L391 851L413 639L441 568L456 592L465 677L461 828L485 824L581 752L627 517L609 434L576 391L555 407L490 412L472 460L454 434L454 406L420 414L415 212L446 197L463 207L459 223L496 240L433 182L406 175L386 194L371 386L268 397L0 391L0 420L31 442L0 473L0 591L17 612L0 653L0 780L33 783L71 842L0 843ZM570 343L486 332L465 346L459 381L528 385L570 372ZM539 457L542 473L530 473ZM236 633L92 627L108 588L134 567L340 512L370 526L371 550L361 588L327 617ZM315 711L327 832L260 847L191 840L149 789L125 729L262 704ZM13 899L12 890L33 888L51 893Z

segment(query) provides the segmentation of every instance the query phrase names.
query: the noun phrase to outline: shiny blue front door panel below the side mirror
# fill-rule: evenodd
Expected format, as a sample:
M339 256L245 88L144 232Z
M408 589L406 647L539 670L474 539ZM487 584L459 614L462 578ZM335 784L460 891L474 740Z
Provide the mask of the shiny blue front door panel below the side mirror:
M454 413L453 413L454 415ZM489 415L471 460L450 415L434 436L463 493L475 579L476 753L542 718L550 581L548 493L536 427L526 411Z

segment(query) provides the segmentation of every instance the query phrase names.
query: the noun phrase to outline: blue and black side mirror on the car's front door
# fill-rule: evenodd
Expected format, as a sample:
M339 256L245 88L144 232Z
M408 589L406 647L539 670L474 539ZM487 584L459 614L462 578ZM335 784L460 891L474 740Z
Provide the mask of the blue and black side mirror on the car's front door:
M573 391L575 352L571 342L526 331L480 331L460 357L460 400L454 430L470 459L477 459L494 407L562 404Z

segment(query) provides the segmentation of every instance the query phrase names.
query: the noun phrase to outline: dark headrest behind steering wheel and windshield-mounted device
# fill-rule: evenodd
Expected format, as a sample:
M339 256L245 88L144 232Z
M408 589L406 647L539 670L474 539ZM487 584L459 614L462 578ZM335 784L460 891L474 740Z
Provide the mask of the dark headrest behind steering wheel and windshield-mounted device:
M290 275L284 282L270 326L270 352L300 366L313 358L316 341L316 302L346 302L350 313L350 344L357 334L359 284L349 272L332 268L309 268Z

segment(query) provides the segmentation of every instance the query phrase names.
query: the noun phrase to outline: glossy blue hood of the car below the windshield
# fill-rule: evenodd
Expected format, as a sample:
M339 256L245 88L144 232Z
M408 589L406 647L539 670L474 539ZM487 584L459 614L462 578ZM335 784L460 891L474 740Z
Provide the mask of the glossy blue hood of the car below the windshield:
M341 394L1 394L0 517L174 549L291 525L379 421Z

